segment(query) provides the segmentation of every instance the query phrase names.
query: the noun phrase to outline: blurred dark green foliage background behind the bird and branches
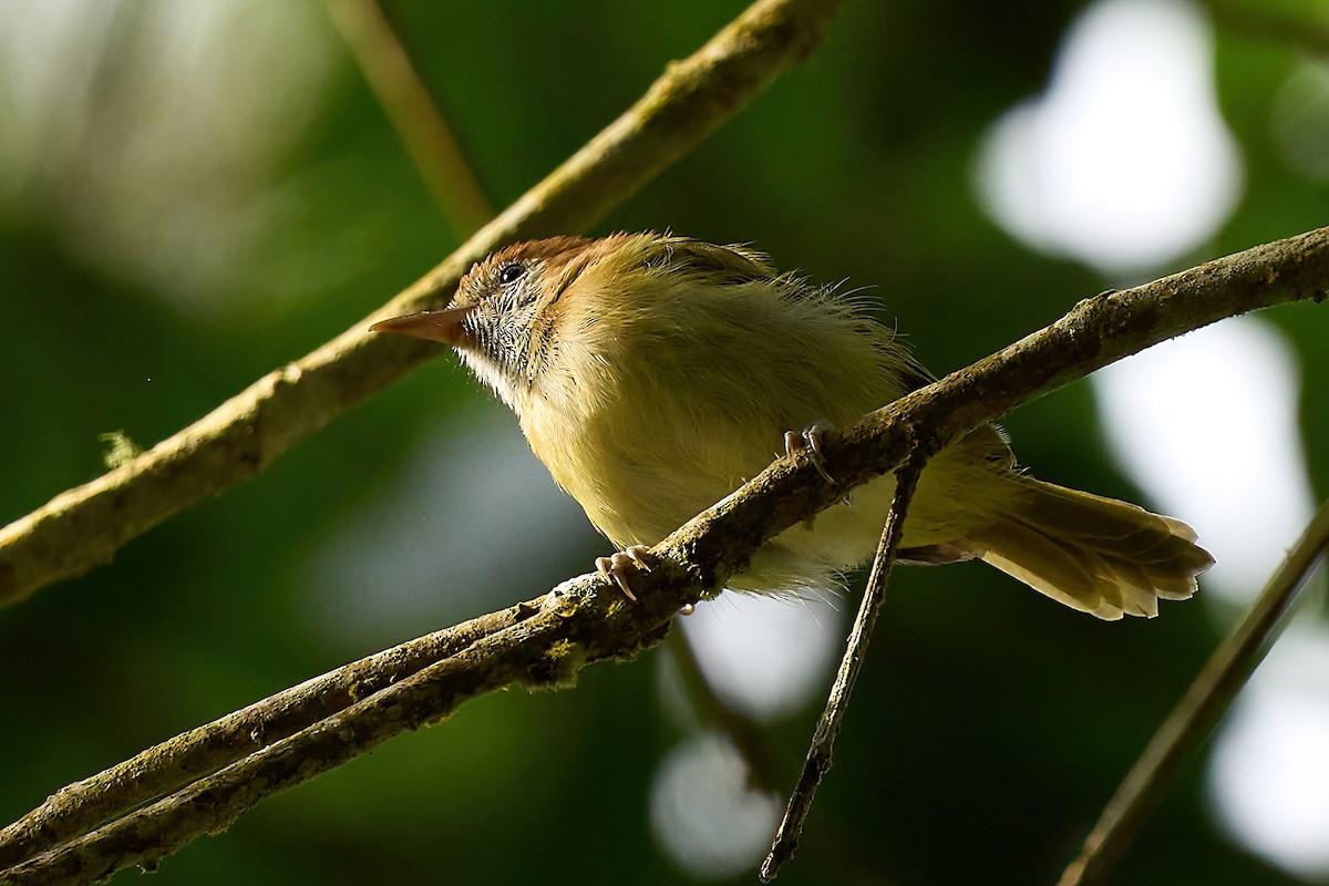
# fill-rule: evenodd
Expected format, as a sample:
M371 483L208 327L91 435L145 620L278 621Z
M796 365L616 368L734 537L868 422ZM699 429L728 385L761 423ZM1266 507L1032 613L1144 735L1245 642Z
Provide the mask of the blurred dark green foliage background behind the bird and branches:
M152 5L122 3L117 15L142 24ZM250 27L278 27L278 5L247 7ZM743 7L389 4L498 205ZM311 40L332 46L331 69L319 80L311 125L292 133L258 183L284 201L280 223L245 251L218 246L206 256L226 272L207 298L181 299L170 276L149 279L92 255L74 223L93 211L77 174L35 173L7 194L0 519L97 476L98 434L124 429L152 445L356 323L457 243L322 7L290 0L283 8ZM851 4L807 65L598 232L668 227L751 242L815 279L876 284L884 316L898 317L929 367L961 367L1104 286L1084 267L1014 243L971 190L977 139L1042 88L1079 8L1058 0ZM243 33L234 35L241 53ZM106 102L116 64L150 64L159 52L133 28L117 40ZM1219 236L1176 267L1325 221L1325 183L1290 170L1271 142L1268 109L1294 50L1232 32L1219 40L1220 97L1244 153L1247 191ZM290 64L299 64L298 52ZM263 88L283 84L275 77ZM97 135L134 126L102 114L80 147L81 166L70 167L113 178L116 158L101 154ZM223 194L255 190L230 181L225 167L214 185ZM1308 440L1322 440L1329 313L1297 307L1269 319L1300 347L1304 428ZM259 480L133 542L114 565L0 612L0 818L354 656L585 571L605 553L589 527L578 530L578 545L532 567L534 583L509 582L504 563L525 539L500 529L493 570L440 575L436 608L400 631L330 639L311 616L311 561L331 534L399 477L427 437L497 409L443 357ZM1086 385L1006 424L1039 476L1140 498L1102 449ZM518 433L512 422L498 428ZM1308 449L1322 495L1329 456ZM429 545L440 527L415 531L412 543ZM1051 882L1217 628L1197 604L1168 606L1155 622L1098 623L977 566L897 575L837 766L781 882ZM482 587L468 591L465 607L449 606L449 584L461 580ZM154 882L686 882L647 817L655 765L682 735L662 707L657 659L593 668L570 692L513 689L466 704L441 727L263 804L223 837L169 859ZM809 707L768 736L787 784L813 716ZM1215 830L1203 810L1201 766L1192 765L1116 882L1289 881Z

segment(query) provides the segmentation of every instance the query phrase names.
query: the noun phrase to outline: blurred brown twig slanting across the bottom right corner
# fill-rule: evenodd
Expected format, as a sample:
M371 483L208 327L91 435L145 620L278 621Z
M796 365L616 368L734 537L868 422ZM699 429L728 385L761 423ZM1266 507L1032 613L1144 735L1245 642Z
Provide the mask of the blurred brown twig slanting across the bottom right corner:
M1264 660L1284 615L1296 603L1306 578L1329 550L1329 499L1288 551L1260 591L1245 618L1200 671L1195 683L1159 727L1144 753L1112 794L1079 855L1062 873L1058 886L1096 886L1107 881L1122 853L1159 805L1181 764L1213 731L1241 687Z

